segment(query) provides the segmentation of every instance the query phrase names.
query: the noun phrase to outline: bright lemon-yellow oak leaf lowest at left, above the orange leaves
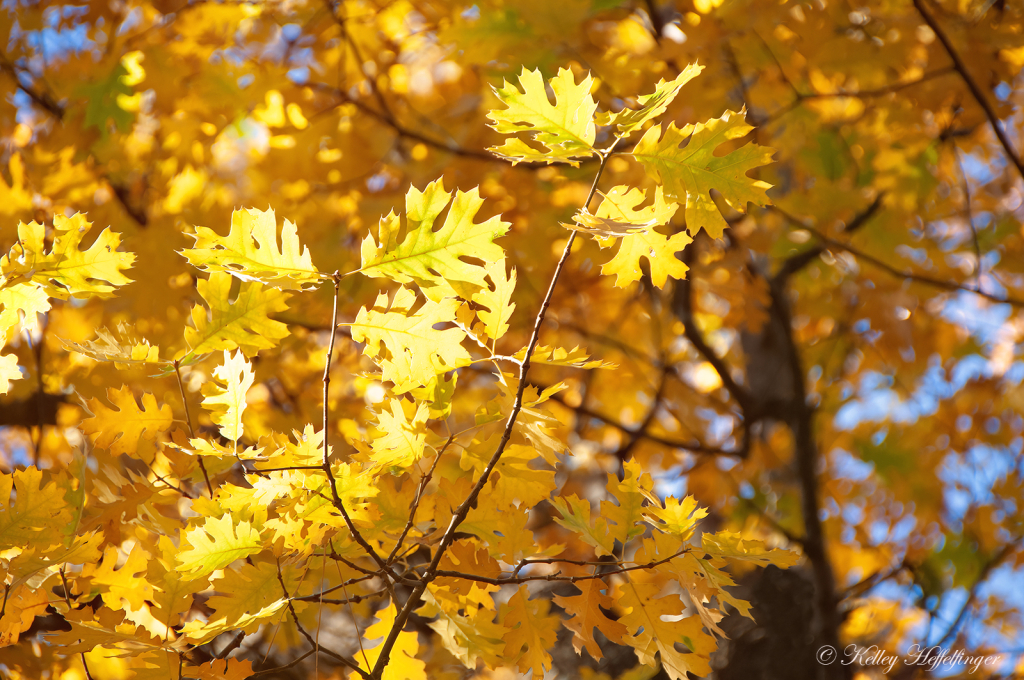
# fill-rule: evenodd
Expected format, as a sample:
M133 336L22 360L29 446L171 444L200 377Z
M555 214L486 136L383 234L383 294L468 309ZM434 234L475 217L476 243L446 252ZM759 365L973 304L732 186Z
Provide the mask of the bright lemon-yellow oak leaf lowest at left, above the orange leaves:
M189 579L198 579L262 549L259 532L249 522L236 524L230 515L207 517L202 526L182 532L175 568Z

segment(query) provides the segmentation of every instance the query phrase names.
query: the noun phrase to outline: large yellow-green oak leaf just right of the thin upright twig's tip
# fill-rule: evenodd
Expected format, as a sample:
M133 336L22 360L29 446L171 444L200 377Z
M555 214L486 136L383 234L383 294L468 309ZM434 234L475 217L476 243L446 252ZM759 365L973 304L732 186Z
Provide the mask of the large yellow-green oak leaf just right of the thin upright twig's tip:
M494 243L510 224L495 216L474 223L483 205L479 189L456 192L444 223L434 228L441 211L452 201L440 179L420 192L410 187L406 195L404 236L399 241L401 223L392 212L380 221L378 240L368 235L362 240L362 263L359 271L372 278L387 278L402 284L417 283L424 295L439 301L456 293L466 297L486 288L487 266L470 264L461 258L471 256L484 262L502 260L505 252Z

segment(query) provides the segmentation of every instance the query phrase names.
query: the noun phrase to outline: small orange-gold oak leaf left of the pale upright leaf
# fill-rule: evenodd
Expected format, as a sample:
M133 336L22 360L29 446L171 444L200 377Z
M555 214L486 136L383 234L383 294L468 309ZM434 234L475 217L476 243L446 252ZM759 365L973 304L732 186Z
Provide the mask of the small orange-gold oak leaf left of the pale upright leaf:
M82 421L82 431L92 443L115 456L127 454L133 458L152 458L153 442L162 432L171 429L174 413L168 405L158 405L157 397L145 393L139 408L131 387L108 388L111 409L99 399L86 402L92 418Z

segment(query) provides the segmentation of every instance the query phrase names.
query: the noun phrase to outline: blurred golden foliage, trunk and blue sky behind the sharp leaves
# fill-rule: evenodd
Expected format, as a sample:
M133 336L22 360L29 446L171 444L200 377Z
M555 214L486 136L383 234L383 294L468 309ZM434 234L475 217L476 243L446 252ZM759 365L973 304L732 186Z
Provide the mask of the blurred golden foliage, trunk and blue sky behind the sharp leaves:
M28 375L0 405L0 460L70 465L85 445L80 397L123 382L179 408L173 382L63 343L128 322L180 353L198 296L172 251L196 225L223 232L238 207L272 206L321 270L344 271L410 185L479 185L481 216L512 223L501 243L519 275L509 346L521 346L594 168L486 153L501 141L485 126L492 87L566 67L591 73L614 111L698 61L667 120L745 109L751 137L776 150L759 175L775 205L723 206L725 238L697 238L687 281L664 291L647 278L615 288L599 275L608 253L578 241L542 341L620 368L532 374L568 385L553 408L573 454L563 492L593 496L632 458L710 508L709 526L803 551L798 569L740 575L757 624L727 622L716 676L885 672L818 665L828 631L899 654L999 653L973 677L1019 674L1022 20L1016 0L8 0L0 242L19 220L82 211L137 260L118 298L57 304L5 339ZM623 158L608 175L646 181ZM343 282L343 321L364 287ZM255 364L254 437L317 421L330 307L322 290L279 315L293 334ZM360 351L339 338L331 383L334 436L349 441L384 396ZM188 389L211 370L194 367ZM471 414L476 378L459 380ZM547 507L530 519L538 537L560 530ZM0 668L74 677L31 643L37 621ZM97 658L96 679L120 677L119 663ZM631 667L556 655L560 677ZM466 677L441 662L431 673Z

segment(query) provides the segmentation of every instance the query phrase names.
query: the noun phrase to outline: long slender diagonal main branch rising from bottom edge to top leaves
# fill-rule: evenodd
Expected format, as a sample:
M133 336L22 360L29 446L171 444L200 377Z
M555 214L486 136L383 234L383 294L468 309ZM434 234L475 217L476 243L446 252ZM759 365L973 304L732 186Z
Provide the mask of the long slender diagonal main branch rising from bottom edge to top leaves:
M620 137L615 137L615 140L607 148L597 152L598 156L601 157L601 163L597 168L597 174L594 175L594 182L591 184L590 194L588 194L587 200L583 204L584 208L589 207L590 202L594 200L594 196L597 193L597 184L601 179L605 166L607 165L608 157L611 156L618 141ZM483 468L483 472L480 473L480 478L476 480L476 484L473 485L469 496L462 502L462 505L459 506L458 510L456 510L447 529L441 537L440 545L437 546L433 559L430 560L430 564L427 566L423 578L420 580L420 583L417 584L416 588L413 589L413 592L410 594L404 606L402 606L401 611L399 611L398 615L395 618L394 625L391 627L391 630L388 632L387 639L384 640L384 644L381 646L380 656L377 658L377 664L374 666L374 670L371 673L371 678L373 680L380 680L383 677L384 669L387 667L388 661L391 657L391 650L398 641L398 634L401 633L401 630L406 627L406 622L409 621L409 617L413 613L413 609L419 606L420 602L422 602L423 593L426 591L427 585L436 578L441 558L455 541L455 535L458 532L459 526L466 520L466 517L469 516L469 511L476 507L477 499L480 497L483 486L487 483L490 473L494 471L495 467L498 466L498 462L501 460L502 454L505 453L505 448L512 438L512 429L515 427L515 421L519 417L519 413L522 411L523 395L526 391L526 374L529 372L529 359L534 353L534 349L537 347L538 341L541 338L541 327L544 325L544 318L548 313L548 308L551 306L551 300L555 293L555 286L558 284L558 279L561 275L562 270L565 268L565 263L569 259L569 254L572 252L572 244L575 242L575 231L570 232L569 238L565 242L565 248L562 250L562 255L558 260L558 264L555 265L555 270L551 275L551 283L548 285L548 292L545 294L544 300L541 302L541 308L538 310L537 317L534 321L534 331L530 334L529 343L526 345L526 352L523 356L522 364L519 365L519 386L516 390L515 401L512 405L512 412L509 414L508 420L505 422L505 430L502 433L502 438L498 444L498 449L490 457L490 460L487 461L486 467Z

